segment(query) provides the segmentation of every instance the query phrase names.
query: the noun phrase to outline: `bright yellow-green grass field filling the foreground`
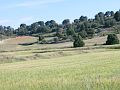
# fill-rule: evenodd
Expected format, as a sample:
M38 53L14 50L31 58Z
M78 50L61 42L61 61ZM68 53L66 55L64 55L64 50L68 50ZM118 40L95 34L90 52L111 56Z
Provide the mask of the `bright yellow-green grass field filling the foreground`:
M120 90L120 51L0 64L0 90Z

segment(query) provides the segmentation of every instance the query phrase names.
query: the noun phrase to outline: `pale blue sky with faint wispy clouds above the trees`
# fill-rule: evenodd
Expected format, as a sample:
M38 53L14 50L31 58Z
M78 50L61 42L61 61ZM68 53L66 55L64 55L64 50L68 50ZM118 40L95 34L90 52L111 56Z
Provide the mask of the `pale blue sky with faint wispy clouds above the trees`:
M37 21L94 18L98 12L118 11L119 0L0 0L0 25L19 27Z

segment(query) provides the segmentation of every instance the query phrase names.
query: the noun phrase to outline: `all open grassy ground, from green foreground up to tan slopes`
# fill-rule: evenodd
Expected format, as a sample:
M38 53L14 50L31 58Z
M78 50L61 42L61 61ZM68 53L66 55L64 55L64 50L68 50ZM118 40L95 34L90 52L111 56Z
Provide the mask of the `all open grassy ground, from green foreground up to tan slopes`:
M120 90L120 45L99 45L106 37L86 40L83 48L17 45L26 41L36 38L0 44L0 90Z

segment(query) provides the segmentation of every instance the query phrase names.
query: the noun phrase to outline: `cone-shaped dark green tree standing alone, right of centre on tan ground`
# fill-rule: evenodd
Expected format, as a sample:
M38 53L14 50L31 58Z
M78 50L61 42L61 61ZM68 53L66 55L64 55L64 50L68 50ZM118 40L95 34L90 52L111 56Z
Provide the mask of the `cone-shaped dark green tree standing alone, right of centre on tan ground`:
M85 43L83 42L83 39L80 35L75 37L75 40L73 42L74 47L83 47Z

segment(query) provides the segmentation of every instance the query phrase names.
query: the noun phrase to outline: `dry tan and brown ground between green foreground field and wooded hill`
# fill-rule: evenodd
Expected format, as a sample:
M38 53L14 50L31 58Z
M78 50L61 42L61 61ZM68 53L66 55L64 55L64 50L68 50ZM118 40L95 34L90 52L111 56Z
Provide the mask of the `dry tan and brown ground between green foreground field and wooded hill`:
M118 35L120 38L120 35ZM37 44L34 43L38 38L30 36L21 36L3 40L0 43L0 63L46 59L52 57L64 57L89 52L94 49L119 48L118 45L104 46L107 37L95 37L84 40L85 47L73 48L73 42L64 42L56 44ZM26 43L34 43L25 45Z

